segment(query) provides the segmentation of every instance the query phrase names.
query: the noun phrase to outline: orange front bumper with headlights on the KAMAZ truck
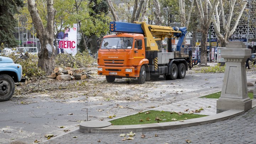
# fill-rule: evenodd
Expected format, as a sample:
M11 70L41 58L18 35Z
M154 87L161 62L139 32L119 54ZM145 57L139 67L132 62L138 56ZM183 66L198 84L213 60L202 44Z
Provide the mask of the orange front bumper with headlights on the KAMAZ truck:
M98 66L102 70L98 70L98 75L115 75L120 77L139 77L140 66ZM126 71L126 69L132 69L132 72Z

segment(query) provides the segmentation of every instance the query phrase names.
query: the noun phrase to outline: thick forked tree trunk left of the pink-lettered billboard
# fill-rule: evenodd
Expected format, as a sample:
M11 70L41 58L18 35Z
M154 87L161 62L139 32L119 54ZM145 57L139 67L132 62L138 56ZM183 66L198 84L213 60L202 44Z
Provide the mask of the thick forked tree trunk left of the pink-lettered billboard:
M37 31L37 38L41 43L41 50L38 53L38 67L51 74L55 67L55 49L53 47L54 40L54 15L56 10L53 8L53 0L47 0L47 26L43 26L43 22L38 13L34 0L28 0L28 11L32 17L34 27Z

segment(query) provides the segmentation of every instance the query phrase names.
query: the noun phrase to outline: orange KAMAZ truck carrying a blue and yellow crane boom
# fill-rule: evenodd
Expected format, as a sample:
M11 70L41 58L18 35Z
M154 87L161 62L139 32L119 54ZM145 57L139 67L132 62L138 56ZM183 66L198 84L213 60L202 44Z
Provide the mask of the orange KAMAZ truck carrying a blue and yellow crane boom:
M186 27L156 26L137 21L110 22L110 32L116 34L103 37L97 59L98 75L106 75L107 82L114 82L116 78L138 78L138 82L144 84L160 75L166 80L183 79L188 67L193 66L192 51L180 52ZM156 41L165 38L169 39L168 52L159 52ZM174 52L172 38L179 38Z

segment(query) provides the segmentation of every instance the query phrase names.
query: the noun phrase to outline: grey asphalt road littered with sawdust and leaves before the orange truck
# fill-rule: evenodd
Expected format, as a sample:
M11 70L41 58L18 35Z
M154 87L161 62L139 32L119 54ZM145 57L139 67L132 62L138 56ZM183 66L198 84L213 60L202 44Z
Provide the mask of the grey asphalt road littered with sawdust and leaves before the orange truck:
M125 116L152 107L182 101L220 91L224 73L187 74L185 79L164 80L163 77L140 85L136 80L120 79L107 84L105 77L86 90L58 90L14 96L0 103L0 143L21 140L33 143L46 140L44 135L64 134L64 130L78 128L81 121L110 119L115 114ZM92 80L84 80L90 84ZM247 74L254 82L255 74ZM81 82L81 81L80 81ZM90 92L90 95L89 95ZM86 95L85 95L86 94ZM61 95L62 97L55 97ZM88 112L87 112L88 111ZM64 126L64 128L59 128Z

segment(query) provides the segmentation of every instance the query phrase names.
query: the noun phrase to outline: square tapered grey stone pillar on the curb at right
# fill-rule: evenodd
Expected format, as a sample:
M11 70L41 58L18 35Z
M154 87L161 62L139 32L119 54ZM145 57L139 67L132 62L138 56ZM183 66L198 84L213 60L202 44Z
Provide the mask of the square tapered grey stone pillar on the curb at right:
M217 113L227 110L244 110L252 108L252 100L248 97L245 61L251 56L243 42L230 42L221 52L226 68L222 93L217 100Z

